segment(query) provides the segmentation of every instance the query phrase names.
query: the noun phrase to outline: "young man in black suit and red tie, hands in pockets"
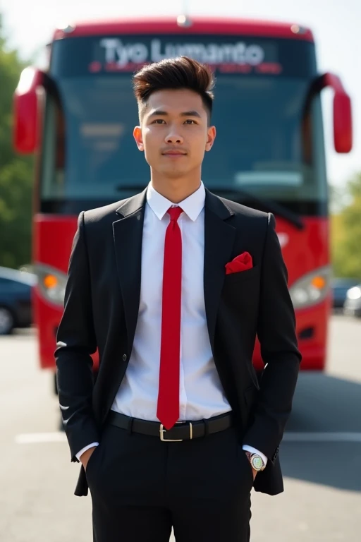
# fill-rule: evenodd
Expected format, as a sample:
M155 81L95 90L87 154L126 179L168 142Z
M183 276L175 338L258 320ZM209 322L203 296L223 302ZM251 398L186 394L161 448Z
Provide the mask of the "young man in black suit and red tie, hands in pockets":
M56 365L97 542L166 542L172 526L177 542L246 542L252 486L283 490L295 315L274 216L201 181L213 85L187 57L137 72L150 183L78 219Z

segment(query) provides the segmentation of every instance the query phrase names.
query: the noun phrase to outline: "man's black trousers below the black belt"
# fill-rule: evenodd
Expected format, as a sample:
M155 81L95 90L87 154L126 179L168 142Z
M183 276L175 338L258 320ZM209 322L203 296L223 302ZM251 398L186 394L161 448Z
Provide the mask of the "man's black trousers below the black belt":
M234 428L182 442L106 426L87 464L94 542L248 542L253 474Z

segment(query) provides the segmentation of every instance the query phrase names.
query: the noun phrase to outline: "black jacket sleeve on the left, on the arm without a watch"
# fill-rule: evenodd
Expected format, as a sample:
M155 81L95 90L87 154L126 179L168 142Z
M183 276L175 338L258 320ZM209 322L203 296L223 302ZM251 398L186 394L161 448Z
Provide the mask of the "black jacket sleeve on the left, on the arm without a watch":
M99 442L92 412L91 354L96 349L84 212L81 212L69 260L55 351L59 404L73 462L78 462L79 450L90 442Z

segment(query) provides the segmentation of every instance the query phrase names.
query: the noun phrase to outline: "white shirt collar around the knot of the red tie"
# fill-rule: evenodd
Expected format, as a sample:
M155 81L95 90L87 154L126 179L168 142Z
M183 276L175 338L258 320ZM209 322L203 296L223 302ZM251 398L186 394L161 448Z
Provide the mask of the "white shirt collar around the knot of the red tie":
M204 184L200 182L200 188L193 192L191 195L188 195L188 198L178 203L179 207L182 207L182 210L185 212L188 217L195 222L200 212L204 207L204 201L206 197L206 191ZM161 220L166 212L169 210L169 207L174 205L171 201L164 198L164 195L159 194L153 186L152 183L149 183L147 188L147 203L151 207L155 215Z

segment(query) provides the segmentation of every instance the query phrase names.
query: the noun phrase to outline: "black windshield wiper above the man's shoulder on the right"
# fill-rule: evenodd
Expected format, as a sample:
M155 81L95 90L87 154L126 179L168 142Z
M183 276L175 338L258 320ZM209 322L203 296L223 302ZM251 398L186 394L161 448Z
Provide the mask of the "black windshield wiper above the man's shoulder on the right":
M287 222L290 222L290 224L293 224L297 229L304 229L305 224L303 224L302 220L298 215L296 215L295 212L290 211L285 207L284 205L281 205L281 203L278 203L274 200L269 200L268 198L259 198L257 195L253 195L252 193L249 193L243 188L210 188L211 192L214 192L217 195L221 195L223 198L227 198L226 194L231 195L231 197L227 198L230 200L234 200L237 203L242 203L244 200L250 200L254 202L257 207L260 208L260 210L265 210L267 212L271 212L274 215L279 215L279 217L287 220ZM235 196L238 196L238 198L235 198Z

